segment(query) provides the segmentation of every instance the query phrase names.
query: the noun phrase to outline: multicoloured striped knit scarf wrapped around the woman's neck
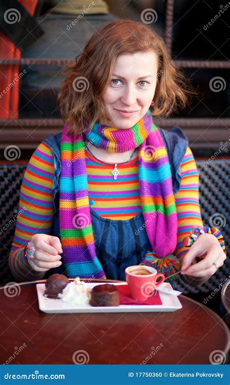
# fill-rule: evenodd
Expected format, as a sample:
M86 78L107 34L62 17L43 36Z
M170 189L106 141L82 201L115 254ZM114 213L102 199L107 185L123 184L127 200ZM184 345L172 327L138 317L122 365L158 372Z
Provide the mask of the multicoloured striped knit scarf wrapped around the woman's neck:
M173 253L177 242L177 214L171 171L163 139L150 112L129 129L95 123L91 128L87 126L84 134L67 135L67 130L68 123L61 138L59 209L67 275L106 278L94 244L84 138L110 152L125 152L138 147L143 226L154 256L164 258Z

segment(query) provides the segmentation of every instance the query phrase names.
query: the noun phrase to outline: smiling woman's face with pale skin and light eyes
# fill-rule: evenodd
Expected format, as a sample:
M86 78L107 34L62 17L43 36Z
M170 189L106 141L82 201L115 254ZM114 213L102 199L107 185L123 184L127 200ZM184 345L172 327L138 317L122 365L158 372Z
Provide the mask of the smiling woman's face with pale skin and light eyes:
M112 74L103 96L110 121L99 122L120 129L130 128L147 113L153 100L157 56L153 51L119 55Z

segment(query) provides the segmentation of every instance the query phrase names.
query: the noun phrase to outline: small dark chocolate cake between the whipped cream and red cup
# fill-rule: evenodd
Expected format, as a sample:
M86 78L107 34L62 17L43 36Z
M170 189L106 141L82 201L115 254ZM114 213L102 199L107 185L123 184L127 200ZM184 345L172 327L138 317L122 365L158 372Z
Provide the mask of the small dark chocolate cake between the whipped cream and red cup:
M119 293L115 285L96 285L91 290L91 306L119 306Z

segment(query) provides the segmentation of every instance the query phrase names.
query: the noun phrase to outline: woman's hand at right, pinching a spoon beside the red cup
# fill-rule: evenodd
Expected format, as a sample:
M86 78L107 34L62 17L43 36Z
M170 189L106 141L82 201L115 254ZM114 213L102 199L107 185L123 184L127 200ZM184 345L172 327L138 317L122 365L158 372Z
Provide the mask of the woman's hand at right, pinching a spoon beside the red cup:
M192 261L196 257L202 257L203 259L193 265ZM225 259L226 254L218 239L213 234L201 234L183 257L181 274L209 278L220 266L223 266Z

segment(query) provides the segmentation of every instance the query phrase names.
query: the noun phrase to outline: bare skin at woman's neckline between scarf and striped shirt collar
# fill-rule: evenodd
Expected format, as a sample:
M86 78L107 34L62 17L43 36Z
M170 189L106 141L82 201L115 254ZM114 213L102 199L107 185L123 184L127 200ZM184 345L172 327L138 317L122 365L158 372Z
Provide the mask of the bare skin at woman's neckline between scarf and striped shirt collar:
M108 162L108 163L123 163L127 162L134 149L126 152L109 152L104 149L99 149L98 147L94 146L91 142L89 142L87 139L85 139L85 143L87 144L89 150L92 152L93 155L96 156L99 160L102 162ZM87 149L87 147L86 147ZM135 149L132 159L135 158L138 154L138 148Z

